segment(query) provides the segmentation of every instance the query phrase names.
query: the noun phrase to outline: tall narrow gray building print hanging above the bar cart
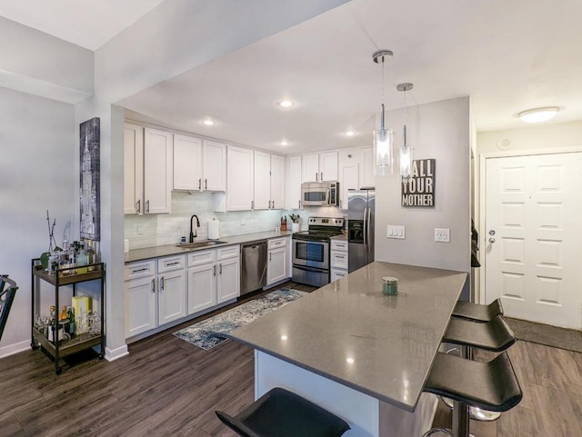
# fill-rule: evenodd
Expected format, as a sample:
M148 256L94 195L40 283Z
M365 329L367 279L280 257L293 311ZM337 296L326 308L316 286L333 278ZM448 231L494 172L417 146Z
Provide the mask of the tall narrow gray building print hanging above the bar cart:
M99 118L80 124L79 134L81 185L79 203L81 204L80 236L86 240L101 240L101 202L100 202L100 124Z

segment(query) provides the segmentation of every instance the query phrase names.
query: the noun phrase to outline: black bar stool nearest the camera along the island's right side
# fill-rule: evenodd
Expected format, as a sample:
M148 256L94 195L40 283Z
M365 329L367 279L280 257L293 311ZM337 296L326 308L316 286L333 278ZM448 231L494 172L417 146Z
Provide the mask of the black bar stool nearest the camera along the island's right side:
M453 431L433 428L423 437L444 432L455 437L469 435L468 407L507 412L521 401L523 393L507 353L488 362L475 362L447 353L437 353L428 374L425 392L455 401Z

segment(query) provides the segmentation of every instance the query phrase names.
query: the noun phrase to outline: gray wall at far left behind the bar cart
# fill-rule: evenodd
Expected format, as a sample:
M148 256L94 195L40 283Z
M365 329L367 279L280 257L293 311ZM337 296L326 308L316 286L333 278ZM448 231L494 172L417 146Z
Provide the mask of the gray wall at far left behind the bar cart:
M0 88L0 120L0 273L20 286L4 356L30 347L30 260L48 250L46 210L56 243L78 236L78 162L72 104Z

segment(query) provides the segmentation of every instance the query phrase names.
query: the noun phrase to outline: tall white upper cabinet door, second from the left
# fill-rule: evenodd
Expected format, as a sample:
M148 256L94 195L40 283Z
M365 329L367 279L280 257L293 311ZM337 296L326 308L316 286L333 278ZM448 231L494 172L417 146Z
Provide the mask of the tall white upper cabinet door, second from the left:
M146 128L144 135L144 213L169 213L174 164L172 134Z

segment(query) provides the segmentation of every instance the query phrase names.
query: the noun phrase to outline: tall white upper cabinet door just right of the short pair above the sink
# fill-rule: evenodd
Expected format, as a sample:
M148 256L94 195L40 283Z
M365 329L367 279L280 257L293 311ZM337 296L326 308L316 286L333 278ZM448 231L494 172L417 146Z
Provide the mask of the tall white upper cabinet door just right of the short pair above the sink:
M251 149L235 145L227 147L226 211L253 209L253 158Z

